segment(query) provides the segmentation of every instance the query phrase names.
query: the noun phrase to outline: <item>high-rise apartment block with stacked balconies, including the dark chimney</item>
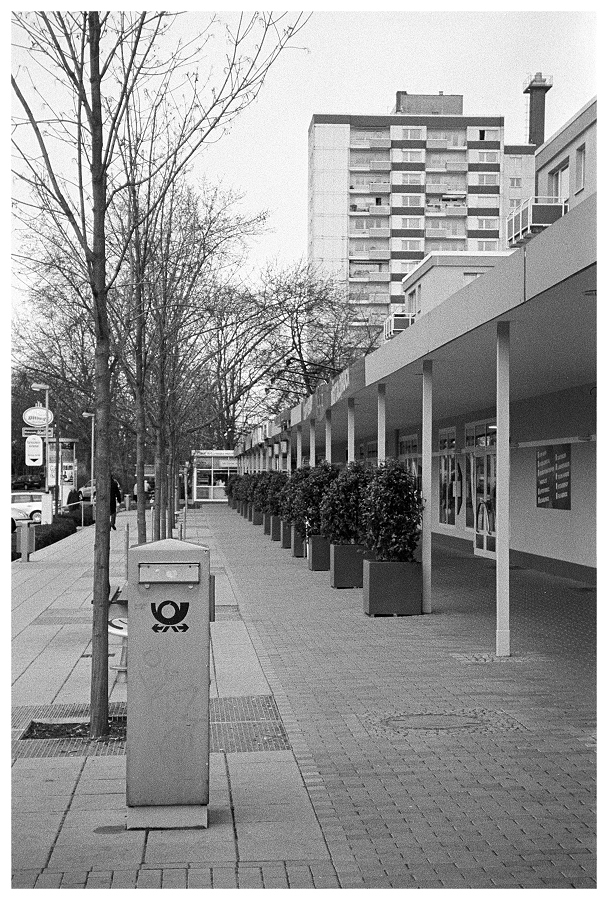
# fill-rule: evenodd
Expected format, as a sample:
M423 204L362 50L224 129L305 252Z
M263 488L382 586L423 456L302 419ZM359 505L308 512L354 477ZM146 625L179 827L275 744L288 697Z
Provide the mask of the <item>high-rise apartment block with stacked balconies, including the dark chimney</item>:
M529 80L531 134L549 88ZM507 216L534 194L535 150L505 145L501 116L465 116L458 94L398 91L391 115L313 115L309 259L348 283L361 320L382 322L428 253L507 249Z

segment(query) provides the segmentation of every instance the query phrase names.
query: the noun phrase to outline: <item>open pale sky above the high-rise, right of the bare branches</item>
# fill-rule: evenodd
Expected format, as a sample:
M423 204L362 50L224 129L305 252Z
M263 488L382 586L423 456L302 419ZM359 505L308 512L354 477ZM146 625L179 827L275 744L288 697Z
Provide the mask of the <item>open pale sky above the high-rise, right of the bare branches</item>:
M523 82L553 76L546 137L596 93L593 12L313 12L256 103L201 154L197 171L267 209L252 263L306 254L307 136L314 113L389 113L395 93L464 95L465 115L502 115L508 143L527 142ZM222 13L220 12L221 16ZM208 14L184 15L180 30ZM199 22L195 22L196 19Z

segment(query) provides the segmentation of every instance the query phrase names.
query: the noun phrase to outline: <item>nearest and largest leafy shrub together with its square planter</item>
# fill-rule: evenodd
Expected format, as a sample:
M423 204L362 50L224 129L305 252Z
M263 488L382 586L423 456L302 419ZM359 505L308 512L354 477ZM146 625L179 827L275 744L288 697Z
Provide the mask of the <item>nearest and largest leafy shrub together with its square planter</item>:
M387 460L373 469L362 504L363 608L367 615L420 615L422 566L414 553L420 540L422 500L405 465Z

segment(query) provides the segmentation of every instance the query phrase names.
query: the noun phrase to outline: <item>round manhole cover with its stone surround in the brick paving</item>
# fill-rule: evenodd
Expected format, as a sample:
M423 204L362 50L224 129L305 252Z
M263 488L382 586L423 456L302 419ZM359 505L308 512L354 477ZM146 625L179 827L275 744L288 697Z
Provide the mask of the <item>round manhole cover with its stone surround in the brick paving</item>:
M397 713L384 719L366 717L364 727L373 737L408 737L415 734L442 734L455 731L494 734L505 731L527 731L519 722L501 710L489 709L424 709Z

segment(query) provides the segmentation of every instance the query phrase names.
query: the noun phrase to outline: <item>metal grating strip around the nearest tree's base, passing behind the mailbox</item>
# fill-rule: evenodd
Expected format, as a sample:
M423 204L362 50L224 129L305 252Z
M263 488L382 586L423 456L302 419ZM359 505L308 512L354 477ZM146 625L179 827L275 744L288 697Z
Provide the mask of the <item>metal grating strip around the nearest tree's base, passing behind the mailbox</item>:
M126 703L111 703L110 715L126 717ZM117 756L126 753L124 738L86 741L82 738L23 739L32 720L69 722L89 715L88 704L21 706L13 709L13 758L52 756ZM212 698L209 703L209 738L212 753L289 750L279 710L271 695Z

